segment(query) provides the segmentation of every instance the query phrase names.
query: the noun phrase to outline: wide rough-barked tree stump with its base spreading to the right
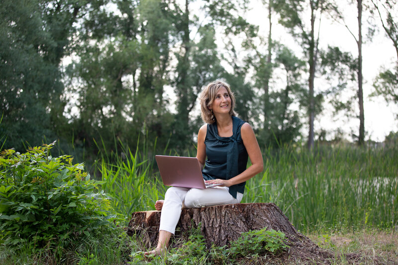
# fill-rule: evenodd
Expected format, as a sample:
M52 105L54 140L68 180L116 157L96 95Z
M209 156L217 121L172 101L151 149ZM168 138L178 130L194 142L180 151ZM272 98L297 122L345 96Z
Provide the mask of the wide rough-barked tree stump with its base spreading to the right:
M127 227L127 234L137 235L146 249L153 249L157 245L160 211L134 212ZM309 238L299 233L274 203L239 203L224 204L211 207L183 209L177 224L175 238L182 240L172 241L172 247L180 247L189 236L193 228L201 223L200 231L206 239L207 247L228 245L238 239L242 232L259 230L267 227L285 233L288 239L289 250L278 257L281 264L330 264L335 254L321 249ZM268 259L268 258L267 258ZM350 264L363 262L363 257L357 254L346 254L346 261ZM374 261L374 264L382 264Z

